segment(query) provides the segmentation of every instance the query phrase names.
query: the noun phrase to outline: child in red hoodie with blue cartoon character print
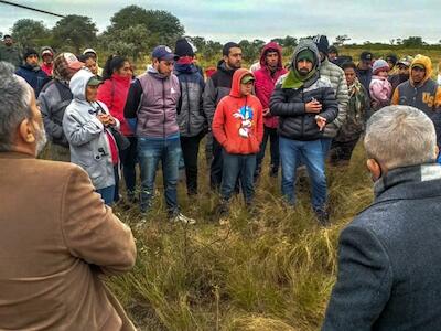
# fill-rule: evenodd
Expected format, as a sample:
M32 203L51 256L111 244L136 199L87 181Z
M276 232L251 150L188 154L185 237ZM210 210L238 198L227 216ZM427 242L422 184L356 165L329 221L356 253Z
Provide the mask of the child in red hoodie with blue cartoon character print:
M228 212L228 201L240 179L247 207L255 195L256 154L263 137L262 106L252 95L255 76L240 68L233 75L232 90L216 107L212 131L224 148L220 185L220 215Z

